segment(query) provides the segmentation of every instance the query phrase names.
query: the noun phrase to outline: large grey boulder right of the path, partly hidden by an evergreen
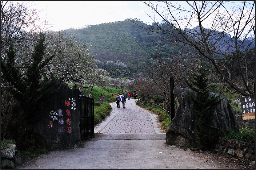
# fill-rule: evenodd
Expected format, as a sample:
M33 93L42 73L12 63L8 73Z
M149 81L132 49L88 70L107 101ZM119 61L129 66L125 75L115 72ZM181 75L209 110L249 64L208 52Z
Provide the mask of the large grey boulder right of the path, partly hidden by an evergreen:
M166 143L179 146L200 146L198 137L194 131L196 117L189 96L191 90L175 87L173 94L176 97L178 107L175 117L173 117L169 129L166 132ZM193 95L195 96L196 93L193 92ZM216 94L211 93L210 96L212 95ZM233 129L239 131L233 108L228 103L225 95L221 95L220 98L224 99L221 100L213 111L211 126L225 130Z

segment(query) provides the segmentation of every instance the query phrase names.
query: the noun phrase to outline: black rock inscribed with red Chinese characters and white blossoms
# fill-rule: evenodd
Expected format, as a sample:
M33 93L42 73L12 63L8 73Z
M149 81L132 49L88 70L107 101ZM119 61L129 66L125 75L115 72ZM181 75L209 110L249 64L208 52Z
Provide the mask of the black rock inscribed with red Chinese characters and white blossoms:
M80 146L79 99L67 85L59 82L48 89L47 93L58 87L60 87L59 91L45 101L43 109L39 110L43 112L44 117L35 129L35 144L43 149Z

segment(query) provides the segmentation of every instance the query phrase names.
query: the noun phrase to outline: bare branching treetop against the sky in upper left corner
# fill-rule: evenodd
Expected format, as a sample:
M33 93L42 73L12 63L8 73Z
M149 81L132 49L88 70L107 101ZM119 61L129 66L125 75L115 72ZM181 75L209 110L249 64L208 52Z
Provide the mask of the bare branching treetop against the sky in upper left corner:
M15 45L20 50L34 45L38 40L40 29L46 29L47 21L41 21L41 11L32 9L31 1L23 3L1 1L1 52L4 47ZM42 27L44 26L44 27ZM41 30L42 32L42 30ZM7 48L5 48L7 49Z

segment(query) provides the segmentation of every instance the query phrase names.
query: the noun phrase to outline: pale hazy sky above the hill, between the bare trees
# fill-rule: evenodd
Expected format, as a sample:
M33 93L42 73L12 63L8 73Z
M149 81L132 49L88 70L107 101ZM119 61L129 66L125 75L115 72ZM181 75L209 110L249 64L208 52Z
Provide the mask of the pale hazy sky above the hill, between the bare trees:
M45 9L40 17L43 19L47 16L48 24L52 25L50 29L54 31L81 28L88 24L123 21L130 17L146 23L152 22L146 13L154 16L154 13L141 1L30 1L29 3L32 4L32 8Z

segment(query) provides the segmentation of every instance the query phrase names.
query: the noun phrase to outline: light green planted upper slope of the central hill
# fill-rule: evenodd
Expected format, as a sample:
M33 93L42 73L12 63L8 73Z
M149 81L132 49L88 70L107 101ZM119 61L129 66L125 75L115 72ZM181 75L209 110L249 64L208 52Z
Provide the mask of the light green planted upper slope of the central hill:
M131 20L109 22L77 30L76 36L91 43L93 51L145 52L132 34L134 26Z

